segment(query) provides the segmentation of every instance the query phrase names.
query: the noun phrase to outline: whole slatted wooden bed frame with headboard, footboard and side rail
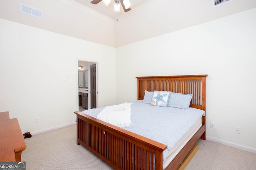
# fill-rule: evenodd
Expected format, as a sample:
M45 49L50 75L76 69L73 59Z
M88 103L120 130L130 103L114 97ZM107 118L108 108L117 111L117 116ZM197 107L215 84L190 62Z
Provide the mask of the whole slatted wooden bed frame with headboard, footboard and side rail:
M144 90L171 91L193 94L190 107L205 111L206 76L148 76L138 79L138 100L143 100ZM77 115L77 145L83 145L114 169L163 170L163 151L166 145L121 129L79 111ZM202 127L168 164L166 170L176 170L198 139L205 140L205 116Z

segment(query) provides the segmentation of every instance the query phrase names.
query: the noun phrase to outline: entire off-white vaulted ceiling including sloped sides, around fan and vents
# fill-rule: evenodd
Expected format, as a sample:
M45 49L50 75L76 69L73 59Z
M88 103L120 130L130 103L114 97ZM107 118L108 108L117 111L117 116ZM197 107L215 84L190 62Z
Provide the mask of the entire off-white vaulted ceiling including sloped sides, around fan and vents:
M109 7L90 1L0 0L0 18L121 47L256 8L256 0L231 0L215 8L212 0L130 0L129 12L114 12L114 0ZM42 18L21 13L20 3L42 10Z

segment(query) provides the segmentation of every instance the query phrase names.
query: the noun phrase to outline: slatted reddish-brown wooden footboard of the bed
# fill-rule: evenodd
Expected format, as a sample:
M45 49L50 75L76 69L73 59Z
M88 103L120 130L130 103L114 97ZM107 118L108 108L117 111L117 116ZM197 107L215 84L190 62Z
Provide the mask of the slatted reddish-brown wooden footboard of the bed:
M166 145L79 111L77 145L83 145L114 169L162 170Z

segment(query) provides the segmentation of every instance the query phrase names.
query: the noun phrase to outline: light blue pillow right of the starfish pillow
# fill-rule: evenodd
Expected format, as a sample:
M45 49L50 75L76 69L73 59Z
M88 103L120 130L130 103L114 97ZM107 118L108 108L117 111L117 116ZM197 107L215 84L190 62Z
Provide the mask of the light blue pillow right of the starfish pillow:
M168 101L168 106L177 107L180 109L188 109L193 94L182 94L170 92L170 98Z

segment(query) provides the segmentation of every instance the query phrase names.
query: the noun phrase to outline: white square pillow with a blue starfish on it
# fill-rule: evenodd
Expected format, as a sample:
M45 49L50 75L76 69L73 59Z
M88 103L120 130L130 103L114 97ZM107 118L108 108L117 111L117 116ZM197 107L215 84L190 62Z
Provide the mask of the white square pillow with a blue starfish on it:
M169 96L170 96L170 92L154 91L153 98L152 98L152 101L151 101L150 105L167 107Z

